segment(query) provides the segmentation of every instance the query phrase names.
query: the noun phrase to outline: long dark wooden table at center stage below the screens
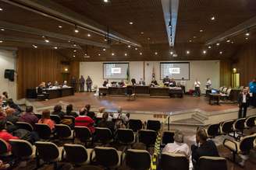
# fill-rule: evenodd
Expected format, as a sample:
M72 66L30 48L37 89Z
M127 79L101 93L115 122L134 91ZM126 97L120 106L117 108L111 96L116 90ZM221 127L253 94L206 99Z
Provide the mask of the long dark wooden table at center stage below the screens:
M128 85L127 87L101 87L99 95L125 95L126 89L132 89L136 95L149 95L151 97L183 97L182 88L150 87L148 85Z

